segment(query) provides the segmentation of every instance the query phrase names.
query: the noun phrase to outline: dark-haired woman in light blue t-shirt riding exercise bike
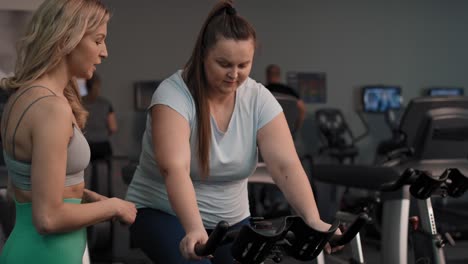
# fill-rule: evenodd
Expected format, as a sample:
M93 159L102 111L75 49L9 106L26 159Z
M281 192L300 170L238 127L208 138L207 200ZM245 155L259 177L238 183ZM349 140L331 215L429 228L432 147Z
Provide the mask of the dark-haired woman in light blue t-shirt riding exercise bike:
M330 226L320 219L280 105L249 78L255 46L253 27L222 1L184 69L153 95L127 199L138 208L132 240L155 263L211 263L194 253L207 230L220 220L248 224L257 146L295 211L314 228ZM229 248L212 261L232 263Z

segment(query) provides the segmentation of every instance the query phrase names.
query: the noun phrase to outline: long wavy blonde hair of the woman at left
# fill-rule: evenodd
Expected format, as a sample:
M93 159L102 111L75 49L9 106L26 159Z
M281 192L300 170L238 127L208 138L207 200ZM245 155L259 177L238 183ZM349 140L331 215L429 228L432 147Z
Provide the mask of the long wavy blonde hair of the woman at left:
M0 86L13 92L30 85L56 67L85 34L106 23L109 16L99 0L45 0L18 41L14 76L2 79ZM83 128L88 112L81 104L75 78L65 87L64 96Z

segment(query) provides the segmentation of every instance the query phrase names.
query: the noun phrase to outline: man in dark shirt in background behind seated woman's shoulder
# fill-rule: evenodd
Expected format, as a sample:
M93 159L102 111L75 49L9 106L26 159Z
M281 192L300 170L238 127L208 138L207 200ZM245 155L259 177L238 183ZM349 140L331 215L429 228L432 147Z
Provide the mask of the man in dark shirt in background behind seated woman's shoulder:
M297 108L299 109L299 115L295 124L295 131L298 131L302 124L304 123L305 118L305 104L304 101L300 98L299 94L294 91L293 88L281 83L281 68L276 64L270 64L266 68L266 86L270 92L291 95L297 98Z

